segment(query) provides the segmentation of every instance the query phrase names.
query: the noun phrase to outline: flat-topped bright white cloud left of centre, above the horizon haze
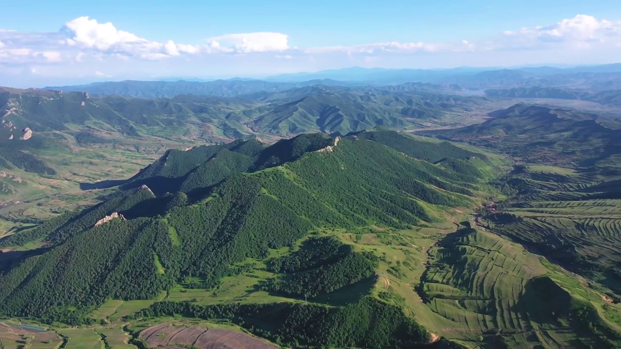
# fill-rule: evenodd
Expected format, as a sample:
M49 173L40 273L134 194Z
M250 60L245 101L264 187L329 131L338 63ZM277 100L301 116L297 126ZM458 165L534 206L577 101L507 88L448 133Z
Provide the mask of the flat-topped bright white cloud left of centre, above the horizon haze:
M228 34L207 39L209 47L223 52L279 52L289 49L289 36L281 33L256 32Z

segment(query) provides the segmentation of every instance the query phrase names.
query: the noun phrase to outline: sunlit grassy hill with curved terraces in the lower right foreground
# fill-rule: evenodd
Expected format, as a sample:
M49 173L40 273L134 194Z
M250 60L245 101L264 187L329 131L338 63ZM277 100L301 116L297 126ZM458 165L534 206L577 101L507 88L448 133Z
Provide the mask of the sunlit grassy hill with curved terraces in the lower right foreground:
M533 284L561 285L568 290L562 291L567 296L565 306L589 302L604 314L602 322L617 328L614 319L621 309L606 301L603 292L584 291L583 279L517 243L469 228L474 225L470 220L456 232L453 225L453 229L344 234L342 238L356 248L383 255L374 296L403 307L433 335L468 347L597 344L596 338L575 335L569 320L553 321L550 314L538 314L546 299L545 293L533 292Z

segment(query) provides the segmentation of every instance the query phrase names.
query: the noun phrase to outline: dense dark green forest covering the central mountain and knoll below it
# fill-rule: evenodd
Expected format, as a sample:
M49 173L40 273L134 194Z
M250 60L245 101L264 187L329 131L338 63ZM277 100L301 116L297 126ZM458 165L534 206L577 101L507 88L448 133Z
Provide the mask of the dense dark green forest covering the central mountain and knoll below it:
M465 193L471 183L460 174L377 142L346 139L332 152L314 152L333 143L325 135L301 135L270 147L249 140L167 152L136 181L153 178L147 174L176 180L201 173L196 178L203 182L196 185L207 186L201 196L156 197L147 186L127 189L0 240L2 247L50 244L48 252L2 273L0 282L11 285L0 292L2 312L75 321L109 297L153 297L188 276L200 276L202 287L213 288L238 273L234 263L266 258L270 248L291 247L317 227L404 229L437 220L426 204L469 206L474 200L435 188ZM417 179L406 180L404 173ZM124 218L95 226L113 212ZM263 287L314 297L373 276L376 256L330 239L307 243L334 254L321 260L327 255L300 250L274 260L271 268L283 274ZM158 273L154 258L166 273ZM33 298L40 301L31 303Z

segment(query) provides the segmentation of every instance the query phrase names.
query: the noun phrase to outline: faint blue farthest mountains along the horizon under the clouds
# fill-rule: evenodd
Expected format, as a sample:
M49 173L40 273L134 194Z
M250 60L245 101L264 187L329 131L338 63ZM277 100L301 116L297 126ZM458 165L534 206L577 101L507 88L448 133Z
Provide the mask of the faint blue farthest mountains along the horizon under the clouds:
M280 75L266 80L227 79L215 81L108 81L75 86L47 86L43 89L80 91L96 95L142 98L175 97L179 94L237 97L256 93L276 93L308 86L378 88L386 91L435 91L467 93L484 89L563 87L589 91L621 89L621 64L574 68L455 68L414 70L346 68Z

